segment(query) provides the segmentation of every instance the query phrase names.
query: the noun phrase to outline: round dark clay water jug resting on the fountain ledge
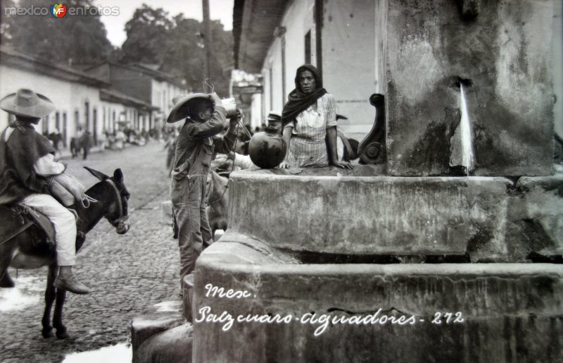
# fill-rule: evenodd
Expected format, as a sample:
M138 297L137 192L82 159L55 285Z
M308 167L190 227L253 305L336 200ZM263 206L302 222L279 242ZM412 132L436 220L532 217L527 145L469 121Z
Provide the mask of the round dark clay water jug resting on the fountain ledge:
M248 155L252 162L263 169L275 168L286 157L287 145L279 130L281 129L281 117L276 119L268 115L268 125L265 131L255 133L248 144Z

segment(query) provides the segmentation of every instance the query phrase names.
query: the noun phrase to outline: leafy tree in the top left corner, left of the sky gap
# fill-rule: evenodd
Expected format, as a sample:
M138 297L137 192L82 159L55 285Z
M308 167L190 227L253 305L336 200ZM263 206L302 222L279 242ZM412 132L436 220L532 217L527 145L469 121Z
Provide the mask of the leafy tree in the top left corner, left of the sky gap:
M44 0L18 1L18 6L25 8L44 8L52 4ZM2 44L53 62L67 63L72 60L72 63L94 63L106 59L113 47L106 37L106 28L91 0L70 0L65 1L64 5L68 8L91 9L84 16L66 15L63 18L53 18L50 15L3 14Z

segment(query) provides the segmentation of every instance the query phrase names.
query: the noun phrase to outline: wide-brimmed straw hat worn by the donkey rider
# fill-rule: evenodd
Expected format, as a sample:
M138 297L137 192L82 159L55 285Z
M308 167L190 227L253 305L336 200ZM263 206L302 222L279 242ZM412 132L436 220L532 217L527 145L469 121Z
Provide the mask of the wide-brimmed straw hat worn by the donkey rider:
M55 111L56 106L43 94L21 88L1 99L0 109L16 116L42 118Z

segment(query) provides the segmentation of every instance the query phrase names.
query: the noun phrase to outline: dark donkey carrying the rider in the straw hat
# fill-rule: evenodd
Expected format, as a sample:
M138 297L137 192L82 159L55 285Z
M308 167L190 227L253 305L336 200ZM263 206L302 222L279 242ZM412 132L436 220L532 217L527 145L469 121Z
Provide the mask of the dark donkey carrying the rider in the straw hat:
M99 183L86 191L89 197L98 202L91 203L88 208L82 207L82 203L77 202L71 209L75 209L78 215L77 230L82 238L77 238L76 251L84 244L84 235L89 232L96 224L105 217L110 224L115 227L115 231L120 235L129 230L129 216L127 215L127 200L129 192L123 184L123 174L121 169L116 169L113 177L95 171L84 166L93 176L100 180ZM5 206L0 206L0 218L2 228L0 240L9 238L4 235L9 228L8 225L14 223L15 226L21 225L21 217L14 211ZM18 224L19 223L19 224ZM80 233L82 232L82 233ZM68 338L66 327L63 325L63 304L65 302L65 290L57 289L53 282L58 273L56 250L53 245L45 242L44 232L37 226L20 231L9 240L0 244L0 287L11 288L14 283L8 274L8 266L17 269L37 269L49 265L47 274L47 287L45 290L45 311L43 314L42 334L45 338L53 336L53 326L56 328L57 338ZM53 314L53 326L51 326L51 307L55 303Z

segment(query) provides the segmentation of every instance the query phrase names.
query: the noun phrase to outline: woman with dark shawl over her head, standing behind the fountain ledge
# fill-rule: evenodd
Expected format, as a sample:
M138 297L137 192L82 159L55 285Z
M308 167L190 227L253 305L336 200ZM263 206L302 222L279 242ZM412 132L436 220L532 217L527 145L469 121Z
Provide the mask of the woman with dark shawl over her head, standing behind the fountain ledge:
M315 168L328 166L330 160L339 168L353 168L336 154L336 104L322 87L317 68L310 64L297 68L295 87L281 113L289 148L280 167Z

